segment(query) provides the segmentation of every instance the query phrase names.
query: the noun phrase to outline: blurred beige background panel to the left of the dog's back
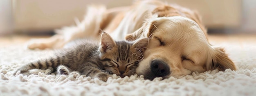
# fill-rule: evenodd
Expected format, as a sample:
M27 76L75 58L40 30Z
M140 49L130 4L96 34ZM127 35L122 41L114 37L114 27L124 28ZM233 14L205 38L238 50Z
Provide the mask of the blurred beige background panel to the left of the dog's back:
M121 6L130 0L13 0L15 31L52 30L74 25L74 19L83 19L87 4ZM110 5L109 5L110 4Z

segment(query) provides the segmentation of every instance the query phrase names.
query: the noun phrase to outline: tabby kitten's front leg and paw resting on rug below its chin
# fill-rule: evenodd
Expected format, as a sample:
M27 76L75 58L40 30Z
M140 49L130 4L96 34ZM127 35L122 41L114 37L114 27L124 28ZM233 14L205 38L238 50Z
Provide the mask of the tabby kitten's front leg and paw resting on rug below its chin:
M103 80L104 82L106 82L108 80L108 78L111 77L110 74L103 72L100 69L95 68L95 67L87 67L83 74L86 76L90 76L91 78L99 78L100 80Z

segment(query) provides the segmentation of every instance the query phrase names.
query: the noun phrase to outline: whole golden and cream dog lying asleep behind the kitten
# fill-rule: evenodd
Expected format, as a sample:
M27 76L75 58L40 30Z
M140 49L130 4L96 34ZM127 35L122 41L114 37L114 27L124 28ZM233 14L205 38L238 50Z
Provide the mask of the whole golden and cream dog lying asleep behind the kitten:
M90 6L77 26L58 30L52 38L37 43L32 41L28 47L61 48L77 38L99 38L99 29L110 33L115 40L150 38L143 51L144 60L137 68L137 74L145 78L180 77L213 69L236 70L223 49L209 44L207 31L196 12L154 0L108 10Z

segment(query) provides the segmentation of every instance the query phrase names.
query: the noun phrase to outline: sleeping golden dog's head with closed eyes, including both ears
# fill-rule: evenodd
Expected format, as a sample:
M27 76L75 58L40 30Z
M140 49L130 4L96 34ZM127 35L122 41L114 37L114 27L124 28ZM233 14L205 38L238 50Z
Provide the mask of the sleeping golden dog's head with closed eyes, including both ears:
M193 20L182 16L149 19L143 27L126 36L126 40L148 37L144 60L137 68L138 75L155 77L180 77L193 71L213 69L236 70L224 50L211 46L204 31Z

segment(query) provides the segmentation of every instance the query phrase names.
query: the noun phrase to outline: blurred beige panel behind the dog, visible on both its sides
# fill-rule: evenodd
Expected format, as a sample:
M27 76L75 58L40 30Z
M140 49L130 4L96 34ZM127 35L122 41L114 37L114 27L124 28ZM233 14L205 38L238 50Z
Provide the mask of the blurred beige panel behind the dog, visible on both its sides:
M74 25L83 19L85 6L106 4L108 8L132 4L132 0L9 0L15 31L43 31ZM239 27L241 0L162 0L198 10L210 28ZM6 16L5 16L6 17Z

